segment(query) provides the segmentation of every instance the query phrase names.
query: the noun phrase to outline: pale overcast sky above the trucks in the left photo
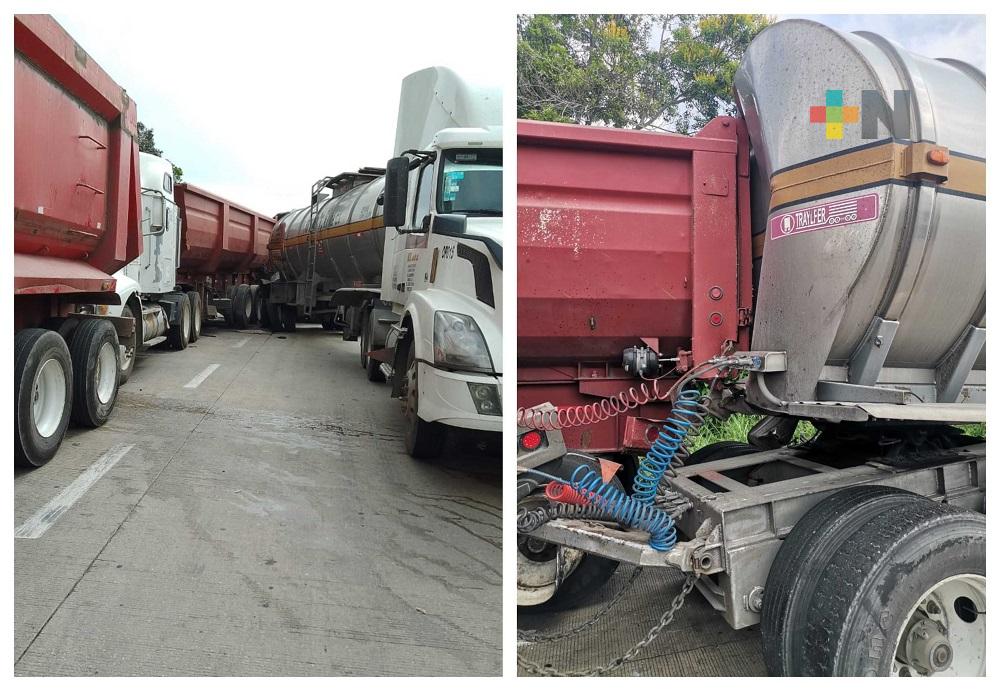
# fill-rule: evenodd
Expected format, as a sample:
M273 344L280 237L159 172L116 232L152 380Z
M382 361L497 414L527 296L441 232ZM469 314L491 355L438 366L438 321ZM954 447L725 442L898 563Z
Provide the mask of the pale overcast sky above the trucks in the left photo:
M501 84L513 59L477 3L219 5L79 3L54 16L135 99L185 181L267 214L307 205L324 175L385 165L405 75L445 65Z

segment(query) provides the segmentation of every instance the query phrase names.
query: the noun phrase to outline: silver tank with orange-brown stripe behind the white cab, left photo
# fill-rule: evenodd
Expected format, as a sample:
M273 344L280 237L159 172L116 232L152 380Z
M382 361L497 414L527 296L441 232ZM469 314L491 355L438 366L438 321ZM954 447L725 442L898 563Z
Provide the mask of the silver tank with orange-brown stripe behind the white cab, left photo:
M378 199L384 178L342 173L325 182L332 190L329 198L290 211L275 225L268 243L272 266L285 280L305 280L313 231L318 293L379 285L385 228Z

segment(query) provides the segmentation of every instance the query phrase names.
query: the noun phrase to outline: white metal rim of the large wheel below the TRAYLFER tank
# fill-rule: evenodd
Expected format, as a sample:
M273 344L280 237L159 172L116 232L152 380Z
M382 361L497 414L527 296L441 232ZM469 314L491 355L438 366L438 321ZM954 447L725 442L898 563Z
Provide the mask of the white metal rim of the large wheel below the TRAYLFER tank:
M893 676L986 673L986 577L950 576L923 594L896 638Z

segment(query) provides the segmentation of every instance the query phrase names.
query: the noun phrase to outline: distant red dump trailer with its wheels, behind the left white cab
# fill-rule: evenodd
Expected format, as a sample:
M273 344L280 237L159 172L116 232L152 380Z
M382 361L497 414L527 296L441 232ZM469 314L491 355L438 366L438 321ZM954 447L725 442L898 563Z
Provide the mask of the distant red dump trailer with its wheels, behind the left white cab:
M201 295L203 318L221 314L240 328L255 323L254 274L267 264L275 220L188 183L177 185L174 199L181 220L177 282Z

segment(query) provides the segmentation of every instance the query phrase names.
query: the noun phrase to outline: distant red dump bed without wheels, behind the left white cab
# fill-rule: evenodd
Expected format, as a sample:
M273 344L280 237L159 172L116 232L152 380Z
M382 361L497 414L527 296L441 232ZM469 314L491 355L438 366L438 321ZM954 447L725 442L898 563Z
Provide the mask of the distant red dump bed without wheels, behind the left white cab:
M174 198L181 214L183 273L244 274L267 262L273 218L188 183L177 185Z

